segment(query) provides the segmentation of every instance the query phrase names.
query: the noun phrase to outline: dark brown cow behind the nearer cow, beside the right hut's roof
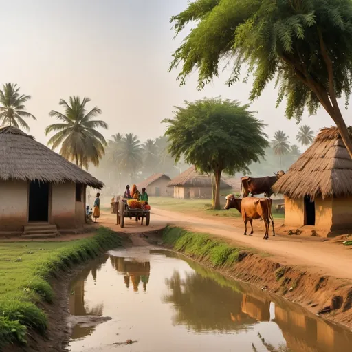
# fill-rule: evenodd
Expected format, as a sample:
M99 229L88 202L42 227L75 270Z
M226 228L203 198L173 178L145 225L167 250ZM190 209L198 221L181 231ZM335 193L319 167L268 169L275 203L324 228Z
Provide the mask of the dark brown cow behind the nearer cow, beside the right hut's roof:
M248 197L250 193L251 197L254 195L262 195L264 193L265 197L270 198L274 194L272 191L272 186L274 183L283 175L284 171L278 171L274 173L275 176L265 176L252 178L245 176L241 178L241 193L243 189L243 198Z

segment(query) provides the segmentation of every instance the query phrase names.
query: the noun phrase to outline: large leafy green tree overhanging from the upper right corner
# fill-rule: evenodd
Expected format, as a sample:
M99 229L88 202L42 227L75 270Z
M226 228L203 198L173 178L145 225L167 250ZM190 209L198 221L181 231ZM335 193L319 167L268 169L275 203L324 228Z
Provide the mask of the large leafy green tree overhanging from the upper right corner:
M232 65L232 85L245 65L254 76L252 100L276 80L276 105L285 98L287 118L300 121L305 108L313 115L321 104L352 157L338 104L351 95L351 0L195 0L171 21L176 34L194 23L170 66L182 65L181 84L197 68L203 88L225 59Z

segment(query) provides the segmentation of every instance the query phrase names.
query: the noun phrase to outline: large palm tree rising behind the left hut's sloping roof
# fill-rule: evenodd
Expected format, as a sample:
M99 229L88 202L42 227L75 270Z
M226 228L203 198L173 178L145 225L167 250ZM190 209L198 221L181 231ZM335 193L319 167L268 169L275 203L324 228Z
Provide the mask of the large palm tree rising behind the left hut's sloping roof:
M99 127L107 129L107 123L93 120L102 113L98 107L87 113L86 104L90 101L86 97L81 101L79 96L70 96L69 103L61 99L58 104L64 107L64 113L55 110L49 113L61 123L51 124L45 129L46 135L57 132L47 142L53 150L61 146L60 154L63 157L86 169L89 162L99 165L107 144L104 136L96 130Z

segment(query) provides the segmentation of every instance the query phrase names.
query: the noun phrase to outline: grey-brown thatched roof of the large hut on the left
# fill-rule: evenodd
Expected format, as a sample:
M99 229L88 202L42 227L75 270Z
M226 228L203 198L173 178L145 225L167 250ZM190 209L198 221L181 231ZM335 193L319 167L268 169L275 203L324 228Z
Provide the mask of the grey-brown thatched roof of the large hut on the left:
M0 179L74 182L99 189L104 186L89 173L14 127L0 129Z

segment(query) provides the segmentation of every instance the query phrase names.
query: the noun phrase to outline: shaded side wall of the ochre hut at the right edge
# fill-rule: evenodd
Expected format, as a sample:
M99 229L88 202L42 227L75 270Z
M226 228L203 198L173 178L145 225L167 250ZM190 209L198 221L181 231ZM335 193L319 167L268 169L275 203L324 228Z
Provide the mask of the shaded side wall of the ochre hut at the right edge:
M352 197L334 198L331 230L352 229Z

